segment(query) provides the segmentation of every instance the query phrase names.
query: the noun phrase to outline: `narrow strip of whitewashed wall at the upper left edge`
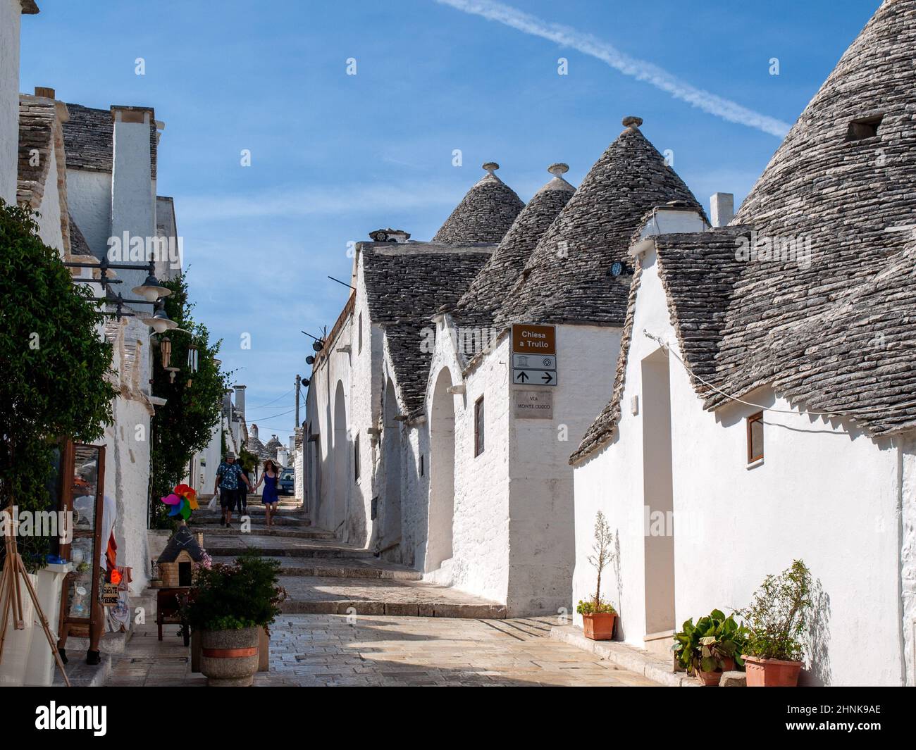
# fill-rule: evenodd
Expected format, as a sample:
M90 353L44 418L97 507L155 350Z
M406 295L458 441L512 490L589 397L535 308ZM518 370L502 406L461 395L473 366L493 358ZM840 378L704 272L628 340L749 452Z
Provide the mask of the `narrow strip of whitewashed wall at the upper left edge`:
M19 154L19 0L0 0L0 198L16 204Z

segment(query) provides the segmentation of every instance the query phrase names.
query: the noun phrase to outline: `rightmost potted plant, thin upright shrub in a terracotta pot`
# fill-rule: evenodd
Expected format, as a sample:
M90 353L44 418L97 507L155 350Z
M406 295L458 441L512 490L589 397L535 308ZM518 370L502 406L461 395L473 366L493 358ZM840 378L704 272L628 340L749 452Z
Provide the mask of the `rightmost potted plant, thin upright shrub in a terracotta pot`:
M748 688L798 685L811 608L811 572L802 560L767 576L740 613L750 631L744 649Z

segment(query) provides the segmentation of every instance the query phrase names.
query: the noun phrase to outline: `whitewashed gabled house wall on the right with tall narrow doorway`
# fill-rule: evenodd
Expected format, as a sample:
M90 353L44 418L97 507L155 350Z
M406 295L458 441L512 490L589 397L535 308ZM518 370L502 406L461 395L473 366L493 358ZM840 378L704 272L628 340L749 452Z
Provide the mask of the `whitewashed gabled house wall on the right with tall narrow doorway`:
M659 335L678 351L654 251L643 264L619 433L575 470L573 581L574 599L594 592L594 571L585 557L594 514L601 509L619 534L619 572L606 575L604 593L621 616L618 637L637 646L643 645L646 633L640 416L645 405L634 416L630 404L632 397L641 396L642 360L659 348L643 331ZM836 422L769 411L765 461L748 469L744 418L757 409L736 404L705 412L682 365L671 358L669 366L675 623L714 607L747 605L768 573L779 573L801 558L812 571L819 597L814 628L818 659L802 680L899 684L903 541L897 510L901 502L909 508L909 561L902 567L912 582L911 452L904 455L889 440L869 440ZM766 391L747 398L755 399L790 408ZM911 484L901 490L898 473L904 463L910 467ZM912 587L909 599L906 626L911 628ZM860 653L866 642L867 658L850 656Z

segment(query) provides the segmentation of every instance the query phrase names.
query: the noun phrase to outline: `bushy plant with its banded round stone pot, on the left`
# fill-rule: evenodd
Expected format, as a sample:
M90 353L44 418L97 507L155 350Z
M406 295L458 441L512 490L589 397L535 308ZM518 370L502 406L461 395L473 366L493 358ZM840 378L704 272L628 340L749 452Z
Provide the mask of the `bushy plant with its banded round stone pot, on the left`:
M232 565L195 571L183 607L201 635L201 671L207 684L247 687L258 667L258 631L279 614L286 592L278 586L277 560L245 551Z

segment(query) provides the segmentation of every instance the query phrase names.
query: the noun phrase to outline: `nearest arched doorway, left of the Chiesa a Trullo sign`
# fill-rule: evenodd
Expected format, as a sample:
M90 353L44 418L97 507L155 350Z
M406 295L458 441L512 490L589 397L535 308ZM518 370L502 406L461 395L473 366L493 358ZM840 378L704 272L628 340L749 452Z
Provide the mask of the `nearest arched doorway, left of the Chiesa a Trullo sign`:
M430 527L426 543L427 571L452 557L455 500L455 408L448 392L452 374L443 368L432 392L430 414Z

